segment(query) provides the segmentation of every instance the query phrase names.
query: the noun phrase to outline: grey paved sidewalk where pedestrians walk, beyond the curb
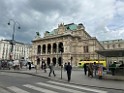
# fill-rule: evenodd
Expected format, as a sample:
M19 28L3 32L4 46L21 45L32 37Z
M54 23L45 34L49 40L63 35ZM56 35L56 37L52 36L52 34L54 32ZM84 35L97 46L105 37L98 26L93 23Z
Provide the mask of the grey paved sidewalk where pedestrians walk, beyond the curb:
M0 70L1 72L12 72L12 73L23 73L30 74L38 77L43 77L47 79L59 80L67 82L67 74L66 71L62 71L62 79L61 79L61 70L55 70L56 77L51 74L51 77L48 77L49 69L47 69L47 73L44 73L42 70ZM72 78L70 83L81 84L86 86L96 86L96 87L104 87L104 88L114 88L114 89L122 89L124 90L124 77L119 76L111 76L106 75L104 79L99 80L97 78L90 78L85 76L82 70L74 70L72 71Z

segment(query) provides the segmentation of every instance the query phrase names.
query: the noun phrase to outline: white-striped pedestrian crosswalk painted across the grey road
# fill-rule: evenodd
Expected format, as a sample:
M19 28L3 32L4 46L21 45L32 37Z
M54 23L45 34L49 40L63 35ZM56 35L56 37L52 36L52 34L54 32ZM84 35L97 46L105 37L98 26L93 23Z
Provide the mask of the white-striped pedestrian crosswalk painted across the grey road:
M7 87L11 93L108 93L107 91L56 81ZM34 92L36 91L36 92Z

